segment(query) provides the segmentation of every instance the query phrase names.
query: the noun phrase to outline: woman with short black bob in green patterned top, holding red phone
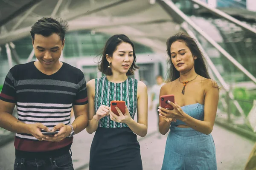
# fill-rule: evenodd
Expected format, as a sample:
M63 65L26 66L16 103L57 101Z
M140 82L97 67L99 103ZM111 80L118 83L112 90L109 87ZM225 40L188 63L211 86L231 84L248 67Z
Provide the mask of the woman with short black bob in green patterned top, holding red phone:
M135 62L131 40L124 34L114 35L107 41L99 62L99 71L106 76L87 83L86 130L90 134L96 131L90 149L90 170L142 170L137 135L147 134L148 94L143 82L128 77L138 68ZM116 116L111 111L113 100L125 101L125 113L116 108Z

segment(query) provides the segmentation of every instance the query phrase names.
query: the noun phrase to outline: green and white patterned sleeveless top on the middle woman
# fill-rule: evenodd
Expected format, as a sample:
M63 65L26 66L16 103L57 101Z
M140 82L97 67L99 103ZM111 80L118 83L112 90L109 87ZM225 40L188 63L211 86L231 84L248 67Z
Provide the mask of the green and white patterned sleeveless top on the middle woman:
M110 107L110 102L113 100L125 101L131 118L134 119L137 111L137 85L138 80L132 79L131 77L128 77L121 83L110 82L106 76L99 79L96 78L94 98L95 113L101 105ZM116 128L128 127L128 125L112 121L108 115L99 120L99 127Z

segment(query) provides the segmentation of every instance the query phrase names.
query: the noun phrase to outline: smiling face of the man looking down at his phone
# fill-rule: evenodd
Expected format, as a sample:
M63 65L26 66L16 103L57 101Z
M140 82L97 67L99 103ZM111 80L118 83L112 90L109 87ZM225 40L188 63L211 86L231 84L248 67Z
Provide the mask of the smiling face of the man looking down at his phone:
M35 49L35 57L41 63L43 68L52 69L58 64L61 57L61 51L64 47L58 34L52 34L49 37L44 37L41 34L35 34L33 47Z

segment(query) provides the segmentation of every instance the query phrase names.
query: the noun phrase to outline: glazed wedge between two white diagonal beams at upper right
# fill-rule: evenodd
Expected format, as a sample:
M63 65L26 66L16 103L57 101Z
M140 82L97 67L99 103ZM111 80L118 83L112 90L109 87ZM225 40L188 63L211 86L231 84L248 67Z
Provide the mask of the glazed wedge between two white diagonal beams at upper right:
M232 0L228 2L231 3ZM244 68L256 76L256 34L251 34L242 27L231 23L225 18L215 16L189 0L175 0L176 5L183 5L180 10L205 31L213 40L218 42L224 50L234 57ZM226 1L225 1L226 3ZM241 18L242 20L242 18ZM255 20L245 20L248 25L255 25ZM225 66L229 64L224 63ZM230 68L232 69L232 68Z

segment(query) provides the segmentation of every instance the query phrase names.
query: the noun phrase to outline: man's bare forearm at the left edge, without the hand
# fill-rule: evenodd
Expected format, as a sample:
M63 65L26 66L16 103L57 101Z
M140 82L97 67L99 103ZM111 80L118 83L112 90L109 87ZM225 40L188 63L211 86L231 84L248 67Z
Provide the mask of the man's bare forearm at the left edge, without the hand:
M28 124L7 112L0 113L0 127L15 133L29 133Z

